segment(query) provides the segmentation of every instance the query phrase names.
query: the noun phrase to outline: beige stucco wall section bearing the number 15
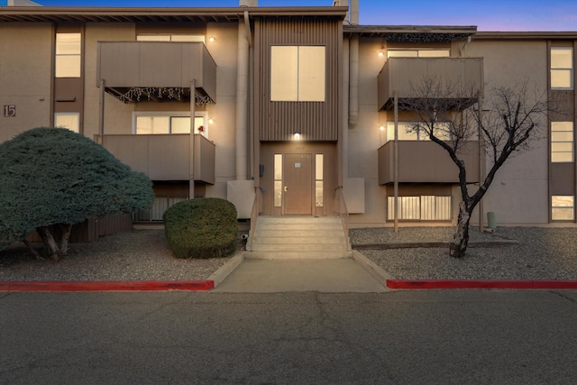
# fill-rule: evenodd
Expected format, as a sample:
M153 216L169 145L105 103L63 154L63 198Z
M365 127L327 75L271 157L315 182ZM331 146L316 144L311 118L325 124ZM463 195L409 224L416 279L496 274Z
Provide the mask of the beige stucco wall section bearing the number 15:
M0 24L0 108L16 108L15 117L0 115L0 142L50 125L51 47L49 23Z

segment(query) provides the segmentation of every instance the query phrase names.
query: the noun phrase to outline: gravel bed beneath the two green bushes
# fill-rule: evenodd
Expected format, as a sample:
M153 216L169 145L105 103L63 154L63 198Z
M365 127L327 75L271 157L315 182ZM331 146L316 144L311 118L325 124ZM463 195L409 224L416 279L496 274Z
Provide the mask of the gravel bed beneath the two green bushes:
M59 262L37 261L15 244L0 252L0 281L206 280L231 258L176 259L164 230L133 230L71 243L69 255Z

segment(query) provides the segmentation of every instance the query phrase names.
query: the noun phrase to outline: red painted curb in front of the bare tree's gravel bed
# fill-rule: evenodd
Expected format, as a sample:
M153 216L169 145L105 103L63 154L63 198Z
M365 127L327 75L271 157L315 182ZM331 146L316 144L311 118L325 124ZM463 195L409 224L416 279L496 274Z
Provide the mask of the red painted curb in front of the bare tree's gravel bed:
M387 280L389 289L577 289L577 280Z

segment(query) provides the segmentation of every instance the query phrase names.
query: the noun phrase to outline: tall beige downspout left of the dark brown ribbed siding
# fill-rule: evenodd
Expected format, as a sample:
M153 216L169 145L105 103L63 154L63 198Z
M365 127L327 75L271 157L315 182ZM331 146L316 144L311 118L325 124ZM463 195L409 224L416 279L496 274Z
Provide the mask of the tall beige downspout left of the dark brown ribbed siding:
M248 11L238 23L238 65L236 75L236 180L248 177L248 85L249 85L249 37ZM248 31L247 31L248 29Z

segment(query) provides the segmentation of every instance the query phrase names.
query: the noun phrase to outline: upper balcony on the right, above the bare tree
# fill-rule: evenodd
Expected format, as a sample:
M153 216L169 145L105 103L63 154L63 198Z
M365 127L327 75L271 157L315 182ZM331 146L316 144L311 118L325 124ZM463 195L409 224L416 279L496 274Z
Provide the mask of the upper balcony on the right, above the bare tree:
M379 110L393 107L394 91L398 99L414 97L412 87L424 78L435 78L441 85L463 85L471 96L483 90L483 61L481 58L389 58L378 77Z

